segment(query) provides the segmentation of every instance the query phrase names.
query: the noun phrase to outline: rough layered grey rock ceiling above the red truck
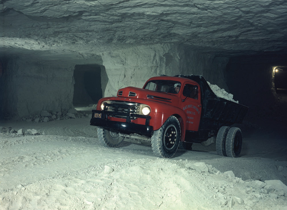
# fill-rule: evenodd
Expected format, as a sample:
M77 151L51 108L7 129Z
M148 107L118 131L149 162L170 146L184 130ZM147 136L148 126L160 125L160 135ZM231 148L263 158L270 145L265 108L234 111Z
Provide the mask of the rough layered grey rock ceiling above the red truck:
M287 54L285 0L0 0L0 8L2 56L158 43L227 57Z

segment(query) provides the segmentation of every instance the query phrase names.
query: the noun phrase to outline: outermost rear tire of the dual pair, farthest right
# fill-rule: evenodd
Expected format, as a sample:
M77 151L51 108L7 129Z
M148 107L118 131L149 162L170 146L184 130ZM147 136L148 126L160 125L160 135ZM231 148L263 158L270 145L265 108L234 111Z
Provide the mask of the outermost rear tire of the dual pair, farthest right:
M238 158L242 147L242 133L240 128L232 127L226 136L226 154L227 157Z

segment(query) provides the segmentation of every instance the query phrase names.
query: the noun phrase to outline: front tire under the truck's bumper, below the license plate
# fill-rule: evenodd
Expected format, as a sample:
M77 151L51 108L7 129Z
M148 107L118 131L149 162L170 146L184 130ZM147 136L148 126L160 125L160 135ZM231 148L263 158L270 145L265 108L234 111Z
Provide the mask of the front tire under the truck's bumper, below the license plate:
M124 140L117 131L106 128L98 128L98 138L106 147L118 147Z

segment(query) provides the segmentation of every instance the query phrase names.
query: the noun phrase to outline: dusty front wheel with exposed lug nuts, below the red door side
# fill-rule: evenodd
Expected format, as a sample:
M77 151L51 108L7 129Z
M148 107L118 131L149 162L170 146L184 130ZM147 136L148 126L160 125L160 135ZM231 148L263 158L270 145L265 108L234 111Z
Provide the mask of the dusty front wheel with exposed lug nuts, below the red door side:
M181 139L181 128L176 117L170 116L152 135L152 150L157 157L172 158Z

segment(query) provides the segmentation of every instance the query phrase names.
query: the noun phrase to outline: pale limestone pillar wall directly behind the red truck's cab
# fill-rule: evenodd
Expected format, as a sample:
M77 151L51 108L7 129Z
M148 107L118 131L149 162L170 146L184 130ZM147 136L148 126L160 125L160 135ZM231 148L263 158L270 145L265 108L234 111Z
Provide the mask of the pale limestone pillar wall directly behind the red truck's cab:
M214 58L179 45L157 44L139 46L102 55L108 83L104 96L114 96L127 86L142 88L152 76L166 74L199 74L213 84L228 90L224 70L228 58Z

